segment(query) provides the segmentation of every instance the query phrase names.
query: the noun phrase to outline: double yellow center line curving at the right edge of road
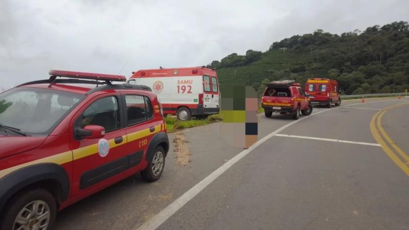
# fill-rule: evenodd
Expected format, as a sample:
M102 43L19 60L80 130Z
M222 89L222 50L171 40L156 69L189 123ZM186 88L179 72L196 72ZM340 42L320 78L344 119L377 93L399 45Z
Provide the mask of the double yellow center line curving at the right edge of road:
M383 151L393 160L393 162L395 162L395 164L397 166L399 166L399 168L406 173L407 176L409 176L409 157L407 156L407 154L405 154L392 140L391 138L388 136L388 134L383 130L382 126L381 126L381 119L382 116L385 112L387 112L388 110L398 107L398 106L403 106L403 105L407 105L409 103L403 103L403 104L399 104L399 105L393 105L387 108L384 108L382 110L380 110L379 112L377 112L371 119L371 124L370 124L370 128L371 128L371 132L372 135L374 136L375 140L381 145ZM383 138L382 138L383 137ZM387 143L385 143L383 141L383 139L385 139L398 153L399 155L405 159L406 163L402 162L401 158L399 158L394 151L388 146ZM398 150L399 149L399 150Z

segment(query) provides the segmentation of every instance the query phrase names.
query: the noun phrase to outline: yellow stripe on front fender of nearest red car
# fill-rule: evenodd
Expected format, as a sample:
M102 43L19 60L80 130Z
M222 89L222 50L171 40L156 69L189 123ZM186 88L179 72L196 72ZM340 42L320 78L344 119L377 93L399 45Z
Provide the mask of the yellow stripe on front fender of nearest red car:
M62 164L65 164L67 162L72 162L72 161L73 161L73 155L71 151L67 151L67 152L56 154L56 155L44 157L41 159L33 160L32 162L27 162L21 165L16 165L8 169L0 170L0 178L2 178L3 176L15 170L18 170L18 169L21 169L27 166L31 166L31 165L42 164L42 163L55 163L58 165L62 165Z

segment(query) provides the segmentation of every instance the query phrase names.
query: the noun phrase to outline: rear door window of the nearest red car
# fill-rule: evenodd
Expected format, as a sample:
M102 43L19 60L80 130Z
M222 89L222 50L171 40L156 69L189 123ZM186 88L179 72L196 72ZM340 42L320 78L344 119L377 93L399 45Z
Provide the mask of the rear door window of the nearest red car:
M126 95L125 102L128 126L141 123L153 117L152 105L147 97L140 95Z

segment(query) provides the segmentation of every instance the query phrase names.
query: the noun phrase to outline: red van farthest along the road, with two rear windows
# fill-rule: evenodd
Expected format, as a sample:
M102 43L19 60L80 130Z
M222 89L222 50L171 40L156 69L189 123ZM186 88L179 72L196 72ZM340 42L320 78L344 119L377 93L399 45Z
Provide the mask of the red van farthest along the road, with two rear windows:
M332 79L312 78L305 84L305 91L310 96L311 104L326 105L331 108L332 103L336 106L341 104L338 82Z

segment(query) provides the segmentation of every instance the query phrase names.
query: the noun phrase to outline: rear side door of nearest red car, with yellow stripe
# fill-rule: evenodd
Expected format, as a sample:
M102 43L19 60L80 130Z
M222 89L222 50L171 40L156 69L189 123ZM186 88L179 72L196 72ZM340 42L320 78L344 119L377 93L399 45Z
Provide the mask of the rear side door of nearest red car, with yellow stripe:
M126 114L126 136L128 151L132 155L132 167L142 170L147 166L144 160L153 134L161 131L161 124L154 119L153 106L149 97L142 93L122 93Z

